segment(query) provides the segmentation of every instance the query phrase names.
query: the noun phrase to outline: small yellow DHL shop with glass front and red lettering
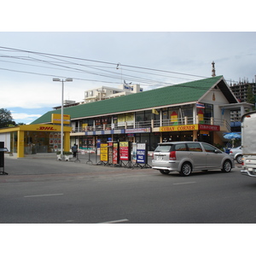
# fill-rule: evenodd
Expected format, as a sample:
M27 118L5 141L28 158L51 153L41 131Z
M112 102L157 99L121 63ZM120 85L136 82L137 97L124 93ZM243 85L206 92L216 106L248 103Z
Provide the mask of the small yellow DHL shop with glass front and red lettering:
M63 150L70 150L72 127L63 126ZM53 153L61 148L61 125L20 125L0 129L0 137L17 157L25 154ZM3 139L2 139L3 140Z

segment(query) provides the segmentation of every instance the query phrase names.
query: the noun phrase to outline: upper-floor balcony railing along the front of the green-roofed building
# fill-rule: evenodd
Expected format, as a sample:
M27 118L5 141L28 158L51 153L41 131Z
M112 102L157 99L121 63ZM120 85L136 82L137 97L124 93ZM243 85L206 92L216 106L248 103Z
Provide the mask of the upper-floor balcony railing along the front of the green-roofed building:
M74 128L74 132L85 132L85 131L108 131L108 130L118 130L118 129L136 129L136 128L156 128L160 126L173 126L173 125L219 125L224 126L228 131L230 131L230 124L225 119L213 119L213 118L204 118L200 119L199 116L193 117L184 117L179 119L162 119L160 120L148 120L148 121L139 121L139 122L124 122L123 124L108 124L108 125L94 125L86 126L83 128Z

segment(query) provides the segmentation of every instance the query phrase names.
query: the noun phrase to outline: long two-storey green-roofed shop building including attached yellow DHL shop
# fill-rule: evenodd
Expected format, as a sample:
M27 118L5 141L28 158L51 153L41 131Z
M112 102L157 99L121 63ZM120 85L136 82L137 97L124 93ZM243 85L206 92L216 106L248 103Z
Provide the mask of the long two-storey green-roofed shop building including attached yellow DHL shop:
M94 149L108 141L147 143L148 150L165 141L195 139L224 145L230 111L239 109L242 114L252 108L253 104L237 101L223 76L79 104L64 108L70 116L70 124L64 125L64 150L73 143ZM31 145L36 152L54 152L61 125L54 124L52 116L60 113L55 109L31 125L0 129L0 141L18 157L30 154Z

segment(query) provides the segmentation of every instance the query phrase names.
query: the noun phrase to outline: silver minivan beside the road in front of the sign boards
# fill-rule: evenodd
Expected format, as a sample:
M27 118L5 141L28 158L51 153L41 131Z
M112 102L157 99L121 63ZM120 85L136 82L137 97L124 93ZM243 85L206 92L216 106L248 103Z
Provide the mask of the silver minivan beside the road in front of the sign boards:
M160 173L179 172L182 176L189 176L193 171L216 169L230 172L234 166L230 154L201 142L159 143L152 160L152 168Z

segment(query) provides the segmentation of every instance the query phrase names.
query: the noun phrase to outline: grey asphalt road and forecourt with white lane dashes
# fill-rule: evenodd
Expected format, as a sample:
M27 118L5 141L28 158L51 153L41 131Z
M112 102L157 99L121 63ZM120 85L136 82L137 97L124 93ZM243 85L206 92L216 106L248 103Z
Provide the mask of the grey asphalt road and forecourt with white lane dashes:
M5 158L1 224L254 224L256 179Z

